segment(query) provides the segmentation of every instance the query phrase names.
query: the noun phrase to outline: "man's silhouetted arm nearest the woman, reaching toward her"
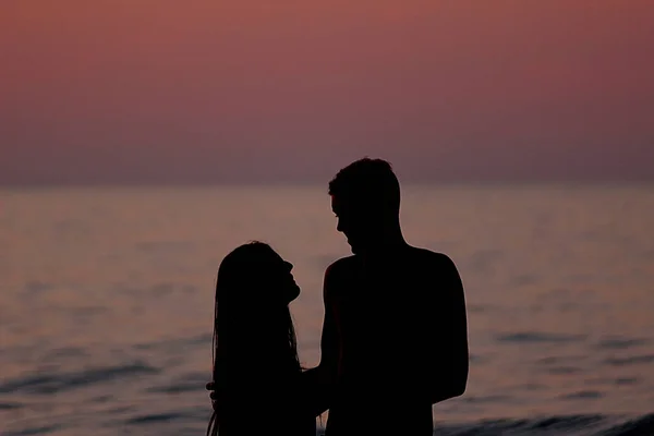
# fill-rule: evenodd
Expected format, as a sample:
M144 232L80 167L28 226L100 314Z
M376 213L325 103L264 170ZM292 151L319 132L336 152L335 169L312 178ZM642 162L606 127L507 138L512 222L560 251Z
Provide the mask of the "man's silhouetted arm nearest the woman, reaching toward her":
M316 416L329 409L332 387L338 373L340 344L336 325L334 276L334 268L330 266L325 272L323 283L325 315L320 336L320 363L302 374L304 390L306 397L311 399L311 408Z

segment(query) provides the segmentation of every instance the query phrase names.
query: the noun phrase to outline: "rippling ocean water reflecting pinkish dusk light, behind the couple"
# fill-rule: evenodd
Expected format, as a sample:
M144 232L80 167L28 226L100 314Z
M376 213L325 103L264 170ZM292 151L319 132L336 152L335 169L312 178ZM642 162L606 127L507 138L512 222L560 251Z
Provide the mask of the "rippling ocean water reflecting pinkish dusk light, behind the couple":
M435 434L654 435L654 186L403 192L408 241L468 302L468 390ZM0 435L204 434L216 270L253 239L295 265L315 365L349 254L325 186L0 191Z

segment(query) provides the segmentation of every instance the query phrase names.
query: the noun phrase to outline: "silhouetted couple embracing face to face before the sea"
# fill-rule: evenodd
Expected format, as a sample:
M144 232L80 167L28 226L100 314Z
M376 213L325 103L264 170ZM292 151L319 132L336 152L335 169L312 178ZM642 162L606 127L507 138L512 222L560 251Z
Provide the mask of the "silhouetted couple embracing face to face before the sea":
M319 364L298 359L292 264L262 242L237 247L218 270L207 434L315 436L329 410L326 436L427 436L432 405L464 392L461 279L447 255L404 240L390 164L350 164L329 195L352 255L325 272Z

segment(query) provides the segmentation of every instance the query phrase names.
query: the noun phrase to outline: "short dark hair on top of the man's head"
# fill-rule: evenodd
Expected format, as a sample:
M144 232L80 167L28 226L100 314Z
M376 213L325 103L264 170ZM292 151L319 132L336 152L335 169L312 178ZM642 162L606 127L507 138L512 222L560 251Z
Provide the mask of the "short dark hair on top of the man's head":
M373 208L400 210L400 182L384 159L364 157L342 168L329 182L329 195Z

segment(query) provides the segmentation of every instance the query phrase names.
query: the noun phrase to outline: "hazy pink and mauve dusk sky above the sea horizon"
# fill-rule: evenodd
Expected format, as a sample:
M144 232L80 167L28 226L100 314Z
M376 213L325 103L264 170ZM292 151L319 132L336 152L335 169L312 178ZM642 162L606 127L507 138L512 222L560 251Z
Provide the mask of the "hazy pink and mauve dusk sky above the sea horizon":
M2 0L0 185L654 180L651 0Z

